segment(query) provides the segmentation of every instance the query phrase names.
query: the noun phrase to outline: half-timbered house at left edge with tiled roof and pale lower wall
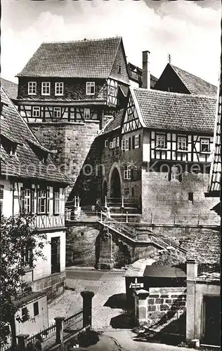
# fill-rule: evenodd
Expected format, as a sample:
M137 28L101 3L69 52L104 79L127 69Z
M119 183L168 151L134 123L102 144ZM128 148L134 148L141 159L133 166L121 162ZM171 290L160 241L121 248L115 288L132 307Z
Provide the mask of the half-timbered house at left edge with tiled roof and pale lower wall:
M64 289L65 188L70 180L55 166L50 150L39 143L3 88L0 133L1 213L30 215L34 230L46 233L45 260L33 265L32 254L24 248L25 280L32 292L45 292L51 299ZM20 333L27 331L24 328Z

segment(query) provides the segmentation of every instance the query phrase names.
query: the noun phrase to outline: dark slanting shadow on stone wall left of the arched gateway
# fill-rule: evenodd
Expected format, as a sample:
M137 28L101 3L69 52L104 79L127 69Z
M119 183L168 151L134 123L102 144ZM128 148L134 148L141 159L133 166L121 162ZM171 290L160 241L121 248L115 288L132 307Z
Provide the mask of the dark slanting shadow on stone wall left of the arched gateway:
M100 164L100 149L97 143L94 140L91 144L67 201L72 201L74 196L79 196L81 206L96 205L96 200L100 197L102 179L102 167L98 166Z

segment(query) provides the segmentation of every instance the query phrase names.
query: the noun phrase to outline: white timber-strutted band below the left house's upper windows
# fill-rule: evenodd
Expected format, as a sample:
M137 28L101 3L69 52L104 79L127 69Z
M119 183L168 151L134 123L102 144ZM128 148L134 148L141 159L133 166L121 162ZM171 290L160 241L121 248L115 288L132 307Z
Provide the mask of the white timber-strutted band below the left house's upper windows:
M32 218L32 226L37 229L65 227L65 214L36 215Z

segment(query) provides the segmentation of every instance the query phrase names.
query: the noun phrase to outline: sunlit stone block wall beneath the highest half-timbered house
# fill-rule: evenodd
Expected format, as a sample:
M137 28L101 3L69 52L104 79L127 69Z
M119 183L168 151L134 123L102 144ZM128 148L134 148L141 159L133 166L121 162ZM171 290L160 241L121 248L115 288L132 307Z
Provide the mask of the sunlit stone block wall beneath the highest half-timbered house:
M67 199L82 166L84 166L93 140L98 135L100 122L32 123L30 128L41 145L57 152L53 156L55 164L65 172L72 182L72 185L66 190Z

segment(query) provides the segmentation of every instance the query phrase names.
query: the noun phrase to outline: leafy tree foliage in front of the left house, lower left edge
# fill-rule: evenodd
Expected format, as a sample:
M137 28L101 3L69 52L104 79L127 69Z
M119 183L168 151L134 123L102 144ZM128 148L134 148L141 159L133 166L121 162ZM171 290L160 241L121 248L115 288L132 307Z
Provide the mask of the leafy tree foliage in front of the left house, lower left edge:
M21 294L29 288L24 281L25 269L27 265L34 267L38 258L44 259L45 244L46 234L35 230L32 216L1 216L1 345L10 333L8 325L12 329L15 319L22 322L17 312L22 306ZM30 319L28 312L27 319Z

